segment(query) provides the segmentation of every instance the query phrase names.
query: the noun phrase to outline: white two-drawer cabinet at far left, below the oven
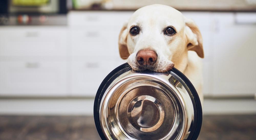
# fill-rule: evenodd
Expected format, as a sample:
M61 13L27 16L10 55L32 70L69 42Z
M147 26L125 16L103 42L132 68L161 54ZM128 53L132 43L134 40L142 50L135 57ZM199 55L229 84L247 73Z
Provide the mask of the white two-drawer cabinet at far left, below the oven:
M67 28L0 28L0 96L67 96Z

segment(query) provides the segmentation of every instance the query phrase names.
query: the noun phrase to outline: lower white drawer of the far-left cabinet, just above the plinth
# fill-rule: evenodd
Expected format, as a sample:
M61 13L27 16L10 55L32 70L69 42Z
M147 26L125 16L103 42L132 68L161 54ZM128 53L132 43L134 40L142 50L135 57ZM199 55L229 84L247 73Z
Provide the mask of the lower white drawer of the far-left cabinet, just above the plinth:
M66 62L0 62L0 95L66 95L66 88Z

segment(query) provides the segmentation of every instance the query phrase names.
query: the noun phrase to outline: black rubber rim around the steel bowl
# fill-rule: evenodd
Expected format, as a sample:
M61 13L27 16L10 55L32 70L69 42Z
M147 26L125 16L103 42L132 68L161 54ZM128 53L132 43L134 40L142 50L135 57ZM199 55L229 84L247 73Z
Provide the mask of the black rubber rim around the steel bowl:
M127 68L127 71L129 71L130 70L129 67L130 66L128 65L128 63L124 63L123 65L120 65L119 67L115 68L113 71L111 71L106 76L106 78L102 81L102 83L100 84L100 86L98 88L97 94L96 94L95 99L94 99L93 114L94 114L95 125L96 125L97 131L98 131L101 139L106 139L105 135L102 132L101 126L100 126L99 109L100 109L101 99L102 99L103 94L105 93L106 89L111 84L111 82L114 79L116 79L120 74L122 74L126 71L124 71L122 73L119 73L119 74L116 74L116 73L120 72L124 68ZM190 98L192 99L192 102L193 102L194 118L195 119L194 119L193 125L190 127L191 131L190 131L190 134L189 134L187 139L193 139L193 140L197 139L197 137L200 133L200 130L201 130L201 125L202 125L202 106L201 106L199 96L196 92L195 87L192 85L192 83L188 80L188 78L182 72L180 72L176 68L173 68L170 71L177 74L187 84L187 86L189 87L189 89L191 91L191 94L189 96L190 96Z

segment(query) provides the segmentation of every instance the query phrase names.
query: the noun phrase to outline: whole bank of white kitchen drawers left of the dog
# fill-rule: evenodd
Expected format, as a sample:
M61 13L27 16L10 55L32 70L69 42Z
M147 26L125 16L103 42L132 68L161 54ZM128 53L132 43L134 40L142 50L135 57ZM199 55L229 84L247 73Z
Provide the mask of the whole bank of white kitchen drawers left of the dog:
M131 12L70 12L67 27L0 28L0 96L95 96L125 61L118 35Z

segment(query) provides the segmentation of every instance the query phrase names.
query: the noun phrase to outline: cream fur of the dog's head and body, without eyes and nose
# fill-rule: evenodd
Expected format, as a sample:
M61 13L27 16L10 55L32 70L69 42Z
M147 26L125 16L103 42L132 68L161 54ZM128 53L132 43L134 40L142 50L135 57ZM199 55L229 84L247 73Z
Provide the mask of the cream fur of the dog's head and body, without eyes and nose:
M133 26L140 27L138 35L130 34ZM172 36L163 32L170 26L176 30ZM136 60L137 52L142 49L154 50L158 56L151 70L166 72L174 63L175 68L192 82L203 101L201 58L204 58L204 51L201 33L194 21L166 5L154 4L138 9L121 29L119 52L132 69L144 70Z

